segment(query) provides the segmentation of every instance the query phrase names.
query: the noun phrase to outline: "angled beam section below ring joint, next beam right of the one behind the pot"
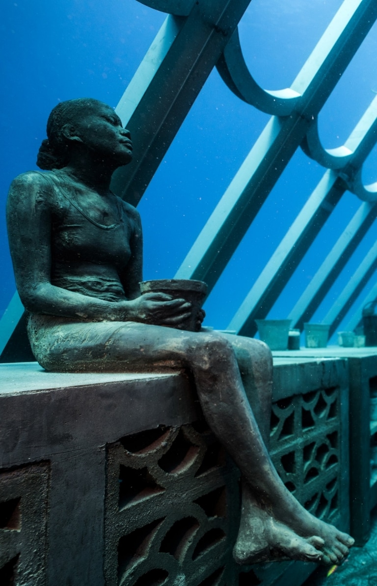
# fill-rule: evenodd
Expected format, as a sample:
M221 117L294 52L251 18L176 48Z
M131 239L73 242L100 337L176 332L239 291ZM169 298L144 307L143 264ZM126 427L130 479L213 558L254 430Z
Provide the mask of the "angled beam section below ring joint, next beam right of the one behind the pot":
M257 331L254 320L263 319L268 314L344 190L344 183L336 173L326 171L240 305L228 329L236 330L241 336L254 336Z

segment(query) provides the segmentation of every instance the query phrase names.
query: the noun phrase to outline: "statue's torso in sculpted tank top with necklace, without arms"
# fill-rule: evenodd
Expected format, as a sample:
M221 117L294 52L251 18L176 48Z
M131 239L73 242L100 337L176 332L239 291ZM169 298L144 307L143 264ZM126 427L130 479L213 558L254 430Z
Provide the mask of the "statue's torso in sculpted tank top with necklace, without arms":
M115 196L101 202L93 193L85 200L60 177L43 175L53 187L51 284L106 301L124 299L120 274L130 260L134 226L123 202Z

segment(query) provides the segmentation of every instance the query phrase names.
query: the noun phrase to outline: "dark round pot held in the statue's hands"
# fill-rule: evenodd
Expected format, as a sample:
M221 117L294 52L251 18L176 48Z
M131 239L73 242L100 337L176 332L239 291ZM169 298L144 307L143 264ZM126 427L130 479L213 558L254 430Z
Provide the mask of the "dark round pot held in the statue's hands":
M202 308L207 293L207 284L205 282L193 281L191 279L156 279L154 281L141 282L140 291L141 294L166 293L174 299L185 299L191 303L191 316L179 325L178 329L199 332L199 309ZM168 327L174 328L175 326Z

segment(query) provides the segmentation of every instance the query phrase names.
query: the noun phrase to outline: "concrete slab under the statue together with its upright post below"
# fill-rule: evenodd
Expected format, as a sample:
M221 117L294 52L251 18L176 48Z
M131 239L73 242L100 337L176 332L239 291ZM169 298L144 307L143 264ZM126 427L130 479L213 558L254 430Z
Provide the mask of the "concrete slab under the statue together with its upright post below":
M188 380L45 373L37 363L2 365L0 380L0 468L50 462L47 584L103 586L105 444L195 419Z

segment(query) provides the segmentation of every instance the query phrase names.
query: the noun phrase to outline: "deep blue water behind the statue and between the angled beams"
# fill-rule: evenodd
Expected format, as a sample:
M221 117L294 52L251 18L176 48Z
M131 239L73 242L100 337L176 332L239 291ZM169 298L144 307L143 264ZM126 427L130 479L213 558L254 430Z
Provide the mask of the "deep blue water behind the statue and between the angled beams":
M240 38L258 83L268 89L289 87L340 5L341 0L253 0L240 23ZM0 315L15 290L4 217L9 183L37 168L47 117L58 101L91 96L116 106L165 18L136 0L3 0L2 12L1 130L6 148L0 188ZM343 144L376 91L375 25L320 113L324 146ZM174 276L268 119L234 96L212 71L139 205L144 278ZM375 148L364 165L365 183L377 180L376 163ZM323 173L296 152L207 300L208 325L227 326ZM359 204L351 193L343 197L271 317L288 315ZM323 318L374 241L375 225L315 319Z

